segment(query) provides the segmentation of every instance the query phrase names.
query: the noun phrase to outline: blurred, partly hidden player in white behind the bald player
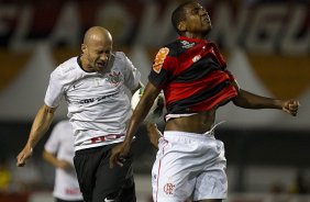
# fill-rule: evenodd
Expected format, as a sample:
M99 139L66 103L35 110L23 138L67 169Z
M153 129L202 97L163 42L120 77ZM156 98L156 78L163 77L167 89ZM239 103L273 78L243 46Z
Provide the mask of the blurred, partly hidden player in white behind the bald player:
M58 122L44 145L43 158L56 168L53 195L55 202L82 202L74 168L74 133L68 120Z

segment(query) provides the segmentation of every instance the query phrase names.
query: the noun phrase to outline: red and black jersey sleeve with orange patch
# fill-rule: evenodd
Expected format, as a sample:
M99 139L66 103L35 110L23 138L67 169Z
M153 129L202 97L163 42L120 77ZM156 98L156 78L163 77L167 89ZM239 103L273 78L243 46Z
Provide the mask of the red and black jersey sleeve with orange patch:
M163 47L158 50L153 61L152 70L148 75L148 81L155 87L162 89L166 86L169 78L169 66L171 58L169 57L169 48Z

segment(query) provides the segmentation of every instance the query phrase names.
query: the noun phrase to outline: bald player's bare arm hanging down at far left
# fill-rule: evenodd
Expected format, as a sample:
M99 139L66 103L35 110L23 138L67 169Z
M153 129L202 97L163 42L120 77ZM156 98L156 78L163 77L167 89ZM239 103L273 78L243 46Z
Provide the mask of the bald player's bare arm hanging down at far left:
M45 104L40 108L33 121L31 132L29 135L29 139L24 148L21 150L21 153L16 157L16 166L23 167L26 164L26 160L32 155L32 149L49 128L49 125L54 117L55 110L56 108L49 108Z

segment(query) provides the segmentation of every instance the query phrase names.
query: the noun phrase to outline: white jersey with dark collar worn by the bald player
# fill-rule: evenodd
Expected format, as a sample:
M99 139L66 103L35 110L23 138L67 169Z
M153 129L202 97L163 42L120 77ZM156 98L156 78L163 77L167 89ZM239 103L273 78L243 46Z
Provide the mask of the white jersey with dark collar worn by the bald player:
M102 72L85 71L78 59L68 59L51 74L45 104L56 108L62 98L68 102L68 117L76 137L75 150L123 142L131 116L124 87L130 90L137 88L139 70L122 52L111 55Z

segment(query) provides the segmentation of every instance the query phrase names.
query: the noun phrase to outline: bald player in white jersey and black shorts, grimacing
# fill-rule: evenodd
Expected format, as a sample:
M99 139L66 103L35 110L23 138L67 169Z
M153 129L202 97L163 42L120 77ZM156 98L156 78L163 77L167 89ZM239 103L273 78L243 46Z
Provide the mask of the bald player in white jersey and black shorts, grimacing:
M141 75L122 52L112 52L112 36L103 27L90 27L81 44L81 55L60 64L52 74L44 99L16 165L22 167L33 147L47 132L54 113L65 99L74 128L79 187L86 202L134 202L132 155L124 166L109 168L110 150L125 138L131 116L132 92L141 87Z

